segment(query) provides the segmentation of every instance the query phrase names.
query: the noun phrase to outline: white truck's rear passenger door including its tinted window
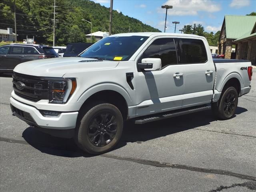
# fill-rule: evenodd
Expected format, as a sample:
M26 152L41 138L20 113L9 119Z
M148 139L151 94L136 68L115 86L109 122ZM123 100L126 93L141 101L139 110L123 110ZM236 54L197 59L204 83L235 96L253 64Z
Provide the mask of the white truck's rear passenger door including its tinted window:
M179 62L185 66L185 85L182 107L210 103L213 95L215 67L206 40L179 38ZM209 59L208 59L209 58Z

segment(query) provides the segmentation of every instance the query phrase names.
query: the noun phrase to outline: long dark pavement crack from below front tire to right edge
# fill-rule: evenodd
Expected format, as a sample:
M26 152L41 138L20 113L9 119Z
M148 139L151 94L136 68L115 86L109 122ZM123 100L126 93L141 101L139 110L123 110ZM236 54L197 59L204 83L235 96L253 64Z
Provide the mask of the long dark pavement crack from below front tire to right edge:
M122 156L116 156L116 155L112 155L112 154L102 154L100 156L106 157L106 158L117 159L117 160L131 161L131 162L149 165L149 166L155 166L155 167L184 169L184 170L190 170L190 171L195 171L195 172L204 172L204 173L211 173L211 174L233 176L233 177L237 177L240 179L246 179L246 180L253 180L253 181L256 180L256 177L248 176L248 175L244 175L244 174L238 174L238 173L230 172L227 170L198 168L198 167L192 167L192 166L181 165L181 164L170 164L170 163L151 161L151 160L145 160L145 159L139 159L139 158L122 157Z

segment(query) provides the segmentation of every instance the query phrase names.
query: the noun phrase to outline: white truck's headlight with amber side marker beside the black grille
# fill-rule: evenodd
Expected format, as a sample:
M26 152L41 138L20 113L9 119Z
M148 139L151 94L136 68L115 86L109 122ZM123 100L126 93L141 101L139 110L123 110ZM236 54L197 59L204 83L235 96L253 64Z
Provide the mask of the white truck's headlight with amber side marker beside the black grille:
M49 80L49 103L64 104L76 90L75 79Z

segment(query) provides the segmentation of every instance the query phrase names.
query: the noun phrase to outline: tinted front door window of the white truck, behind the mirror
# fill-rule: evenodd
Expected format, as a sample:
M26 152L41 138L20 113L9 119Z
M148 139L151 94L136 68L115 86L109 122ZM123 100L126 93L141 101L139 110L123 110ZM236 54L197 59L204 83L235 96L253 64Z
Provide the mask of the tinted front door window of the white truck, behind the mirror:
M143 58L160 58L162 61L162 68L170 65L177 64L176 48L173 38L160 38L154 40L152 44L144 51L139 59Z

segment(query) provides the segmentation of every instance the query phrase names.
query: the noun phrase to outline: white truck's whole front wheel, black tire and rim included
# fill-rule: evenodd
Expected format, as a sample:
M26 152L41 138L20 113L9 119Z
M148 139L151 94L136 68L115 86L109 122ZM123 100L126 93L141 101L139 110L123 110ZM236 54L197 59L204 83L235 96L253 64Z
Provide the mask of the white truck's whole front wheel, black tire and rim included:
M90 154L111 150L122 136L124 123L120 110L112 104L98 102L83 114L76 127L78 147Z

